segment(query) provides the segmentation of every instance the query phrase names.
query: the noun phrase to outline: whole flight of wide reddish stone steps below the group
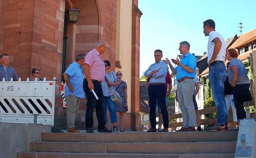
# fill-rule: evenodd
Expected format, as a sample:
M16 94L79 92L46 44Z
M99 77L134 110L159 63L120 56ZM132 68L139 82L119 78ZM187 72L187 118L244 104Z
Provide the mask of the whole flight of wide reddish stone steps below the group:
M238 131L42 133L17 158L234 158Z

